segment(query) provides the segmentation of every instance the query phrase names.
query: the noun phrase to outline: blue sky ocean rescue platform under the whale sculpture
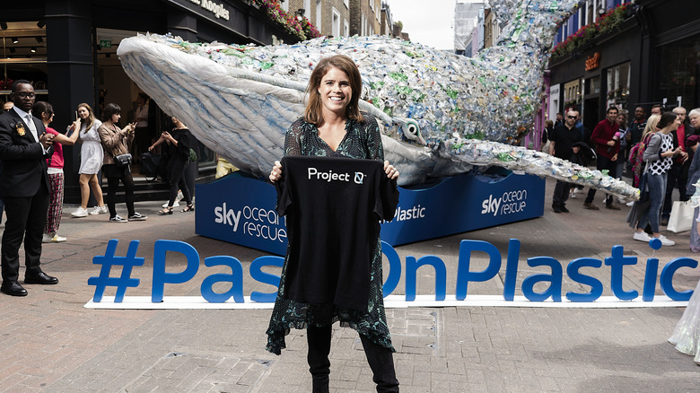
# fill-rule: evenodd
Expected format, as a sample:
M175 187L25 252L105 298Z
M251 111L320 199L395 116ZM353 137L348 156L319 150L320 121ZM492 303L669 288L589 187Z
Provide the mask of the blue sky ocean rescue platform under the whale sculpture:
M532 175L476 175L430 188L399 188L394 220L382 223L392 246L514 223L544 214L545 180ZM197 185L197 234L284 255L284 217L275 211L275 187L232 174Z

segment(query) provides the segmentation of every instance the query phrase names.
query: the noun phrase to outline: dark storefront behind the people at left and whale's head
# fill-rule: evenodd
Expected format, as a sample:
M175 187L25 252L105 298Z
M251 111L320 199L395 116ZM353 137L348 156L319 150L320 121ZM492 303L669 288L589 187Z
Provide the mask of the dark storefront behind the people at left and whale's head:
M91 105L98 117L104 104L117 103L122 125L133 118L141 91L122 70L116 52L121 39L139 32L258 45L298 40L244 0L27 0L4 4L0 18L0 99L9 100L13 81L31 81L37 100L52 104L56 112L52 126L58 130L70 124L82 102ZM155 110L149 121L160 132L167 127L164 118ZM80 200L79 153L79 146L66 146L64 151L66 203ZM214 154L200 145L197 178L213 170ZM159 186L137 185L137 198L162 197L157 195Z

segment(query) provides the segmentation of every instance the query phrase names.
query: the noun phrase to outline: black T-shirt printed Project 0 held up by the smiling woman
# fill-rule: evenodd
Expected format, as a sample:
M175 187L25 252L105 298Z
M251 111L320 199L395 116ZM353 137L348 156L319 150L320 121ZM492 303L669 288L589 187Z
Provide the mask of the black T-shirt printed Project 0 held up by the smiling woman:
M276 183L286 215L284 287L293 301L367 310L380 221L398 205L396 180L374 160L289 156Z

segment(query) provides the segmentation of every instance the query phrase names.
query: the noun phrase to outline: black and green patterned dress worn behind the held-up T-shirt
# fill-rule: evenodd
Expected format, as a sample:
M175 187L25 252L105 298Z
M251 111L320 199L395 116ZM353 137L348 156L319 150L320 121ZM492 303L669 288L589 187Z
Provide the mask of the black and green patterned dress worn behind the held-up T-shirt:
M362 122L352 119L346 121L346 135L335 152L319 137L319 130L315 125L307 123L303 118L294 121L287 130L284 140L284 155L352 157L384 161L384 149L381 145L381 134L377 120L364 113ZM351 310L332 303L308 304L285 299L285 274L286 258L282 267L275 309L272 310L270 325L267 327L267 351L281 354L282 348L286 347L284 336L289 334L291 328L321 327L336 321L340 321L341 326L354 328L361 335L370 338L373 343L394 351L384 312L381 241L379 239L370 267L370 294L367 310Z

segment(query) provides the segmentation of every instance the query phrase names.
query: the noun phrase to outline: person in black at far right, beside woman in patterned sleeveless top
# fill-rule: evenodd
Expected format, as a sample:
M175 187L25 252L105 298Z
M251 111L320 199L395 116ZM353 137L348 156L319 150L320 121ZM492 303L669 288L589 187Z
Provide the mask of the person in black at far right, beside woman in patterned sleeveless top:
M685 108L676 107L673 109L673 113L678 115L678 121L680 121L678 129L671 132L673 136L673 148L680 147L682 153L678 154L678 156L673 159L673 165L671 165L668 174L669 179L666 185L666 196L663 199L663 207L661 208L661 225L664 226L669 224L670 210L673 206L673 189L678 188L678 199L680 201L688 200L686 185L687 170L690 166L690 161L688 161L686 143L688 136L694 135L696 132L686 121Z

